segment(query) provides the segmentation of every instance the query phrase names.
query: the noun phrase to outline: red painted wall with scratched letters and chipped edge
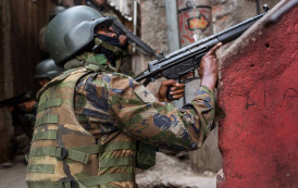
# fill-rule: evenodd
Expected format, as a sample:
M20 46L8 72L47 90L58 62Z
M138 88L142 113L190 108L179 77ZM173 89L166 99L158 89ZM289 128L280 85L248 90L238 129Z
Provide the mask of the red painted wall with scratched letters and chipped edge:
M266 15L222 58L219 188L298 187L297 12L268 28Z

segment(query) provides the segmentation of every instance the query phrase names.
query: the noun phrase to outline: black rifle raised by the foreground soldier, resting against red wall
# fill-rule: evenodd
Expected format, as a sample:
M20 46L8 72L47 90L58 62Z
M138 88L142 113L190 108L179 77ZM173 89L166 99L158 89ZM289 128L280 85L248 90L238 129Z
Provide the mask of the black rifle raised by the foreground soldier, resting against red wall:
M186 76L188 73L194 73L195 70L200 66L201 58L216 43L222 42L225 45L245 33L269 10L266 5L264 5L263 9L265 11L264 13L232 26L219 34L203 38L165 57L163 54L158 54L158 59L150 62L148 64L148 70L142 72L140 75L137 75L135 80L140 82L146 79L142 84L147 86L150 82L154 82L161 77L175 79L179 83L188 83L195 79L195 74L193 74L194 77L191 78L186 78L184 80L181 78ZM166 97L167 99L173 100L173 97L169 95L170 90L171 87L167 89Z

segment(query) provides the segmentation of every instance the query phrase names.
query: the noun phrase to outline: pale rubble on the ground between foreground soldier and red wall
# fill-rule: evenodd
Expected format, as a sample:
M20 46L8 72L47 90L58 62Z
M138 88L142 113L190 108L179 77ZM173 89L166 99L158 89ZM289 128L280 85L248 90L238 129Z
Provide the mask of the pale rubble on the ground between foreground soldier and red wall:
M206 172L196 174L190 170L189 160L157 153L157 164L137 173L139 188L215 188L216 176Z

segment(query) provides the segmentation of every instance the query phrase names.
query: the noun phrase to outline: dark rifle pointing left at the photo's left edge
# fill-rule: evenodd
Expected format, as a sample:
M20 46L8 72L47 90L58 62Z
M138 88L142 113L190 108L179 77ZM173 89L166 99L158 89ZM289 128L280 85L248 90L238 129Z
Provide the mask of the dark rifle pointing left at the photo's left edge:
M0 101L0 108L16 106L20 103L27 102L33 99L35 99L35 95L32 91L23 92L18 96Z

